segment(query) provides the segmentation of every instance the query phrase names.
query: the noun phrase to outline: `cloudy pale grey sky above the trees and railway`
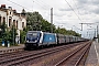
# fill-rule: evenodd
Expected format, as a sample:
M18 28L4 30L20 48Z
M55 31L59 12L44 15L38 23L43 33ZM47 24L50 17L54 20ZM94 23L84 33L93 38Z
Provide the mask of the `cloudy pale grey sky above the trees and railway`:
M74 30L82 34L82 37L92 37L99 24L99 0L1 0L0 4L12 7L18 12L22 9L26 12L38 11L48 22L51 22L51 8L53 8L53 24ZM96 24L84 24L80 31L79 23Z

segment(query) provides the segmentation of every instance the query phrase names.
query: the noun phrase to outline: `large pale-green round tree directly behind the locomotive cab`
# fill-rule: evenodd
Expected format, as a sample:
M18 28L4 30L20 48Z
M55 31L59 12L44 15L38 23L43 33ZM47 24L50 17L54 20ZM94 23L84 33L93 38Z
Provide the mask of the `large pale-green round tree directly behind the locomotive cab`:
M38 12L28 12L26 13L26 28L29 30L38 31L41 30L42 15Z

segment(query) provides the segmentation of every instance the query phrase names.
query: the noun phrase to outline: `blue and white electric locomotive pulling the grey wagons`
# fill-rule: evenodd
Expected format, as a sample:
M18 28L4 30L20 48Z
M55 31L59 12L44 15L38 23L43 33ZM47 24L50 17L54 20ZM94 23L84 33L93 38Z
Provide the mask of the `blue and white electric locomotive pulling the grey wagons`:
M46 33L42 31L29 31L25 37L25 47L38 47L44 45L57 44L56 33Z

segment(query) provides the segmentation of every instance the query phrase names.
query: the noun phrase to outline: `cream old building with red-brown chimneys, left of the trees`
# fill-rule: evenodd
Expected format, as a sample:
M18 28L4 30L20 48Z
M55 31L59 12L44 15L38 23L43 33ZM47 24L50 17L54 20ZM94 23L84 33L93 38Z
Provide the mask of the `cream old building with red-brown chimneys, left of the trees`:
M20 30L26 26L25 13L18 13L16 10L13 10L11 7L6 7L1 4L0 7L0 25L2 22L6 22L8 29L10 30L12 25L16 28L16 40L20 42Z

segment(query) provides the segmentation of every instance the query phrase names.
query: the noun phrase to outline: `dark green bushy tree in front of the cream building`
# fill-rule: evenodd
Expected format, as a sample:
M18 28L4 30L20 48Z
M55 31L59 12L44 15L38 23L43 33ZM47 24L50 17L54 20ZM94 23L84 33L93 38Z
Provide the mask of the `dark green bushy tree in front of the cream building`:
M2 38L2 41L6 42L6 44L8 41L10 42L10 44L15 44L16 35L18 35L18 33L16 33L16 29L14 28L14 25L12 25L12 28L10 30L7 28L6 22L2 23L0 37Z

